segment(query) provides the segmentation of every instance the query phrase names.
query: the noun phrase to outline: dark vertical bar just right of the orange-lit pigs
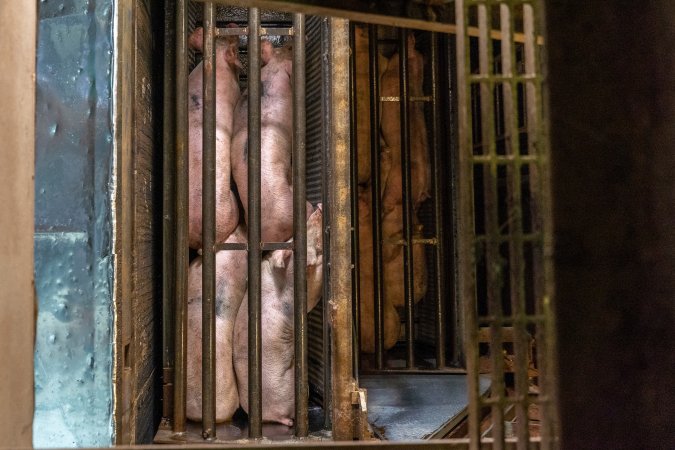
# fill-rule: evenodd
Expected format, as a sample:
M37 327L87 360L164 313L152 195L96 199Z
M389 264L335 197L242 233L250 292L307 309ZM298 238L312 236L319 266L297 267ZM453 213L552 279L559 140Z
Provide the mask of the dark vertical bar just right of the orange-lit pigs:
M436 222L436 368L445 367L445 333L446 333L446 310L445 310L445 258L443 255L443 239L445 230L443 226L443 191L441 189L441 138L440 138L440 105L438 99L438 36L431 33L431 148L433 151L434 174L434 221ZM415 240L413 239L413 243Z

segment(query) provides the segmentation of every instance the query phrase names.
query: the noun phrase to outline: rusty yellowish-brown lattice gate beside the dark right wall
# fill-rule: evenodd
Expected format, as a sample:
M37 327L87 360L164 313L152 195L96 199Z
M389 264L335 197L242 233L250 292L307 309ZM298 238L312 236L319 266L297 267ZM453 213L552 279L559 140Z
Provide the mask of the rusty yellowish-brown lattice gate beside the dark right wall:
M535 13L541 2L457 0L457 66L459 102L459 292L465 319L465 352L469 384L470 447L491 442L496 449L506 443L516 448L530 445L528 409L538 404L541 411L542 448L557 447L554 410L554 372L551 355L554 330L551 316L552 260L551 217L549 201L548 146L542 111L541 34ZM516 11L522 15L524 34L524 70L516 67L514 39ZM500 56L496 57L493 24L499 21ZM470 21L478 22L478 39L469 32ZM473 41L472 41L473 40ZM472 71L472 53L476 51L478 70ZM496 67L500 67L497 69ZM524 86L527 144L521 142L519 130L519 87ZM476 87L476 89L474 89ZM472 102L477 92L479 102ZM501 102L496 101L502 99ZM503 118L504 150L497 148L496 127ZM480 133L480 144L476 145ZM482 185L474 177L482 178ZM480 178L477 178L480 179ZM506 185L506 193L501 183ZM526 186L524 188L523 186ZM476 196L482 194L482 204ZM524 194L527 193L527 194ZM505 197L505 198L504 198ZM506 207L506 213L502 208ZM482 211L478 208L482 207ZM529 209L528 216L525 208ZM476 222L482 218L482 224ZM504 217L505 216L505 217ZM532 254L526 257L526 250ZM504 256L507 254L507 256ZM487 314L479 315L476 273L484 260ZM526 264L530 262L530 268ZM526 277L526 270L532 276ZM527 286L527 284L530 284ZM508 290L505 289L508 286ZM528 307L532 292L534 308ZM510 315L507 311L510 310ZM491 355L491 395L480 396L479 327L489 325ZM514 329L513 395L507 395L502 355L503 327ZM536 330L538 387L529 393L528 331ZM492 436L480 433L481 408L490 407ZM505 409L515 409L515 439L504 425ZM509 439L507 439L509 438Z

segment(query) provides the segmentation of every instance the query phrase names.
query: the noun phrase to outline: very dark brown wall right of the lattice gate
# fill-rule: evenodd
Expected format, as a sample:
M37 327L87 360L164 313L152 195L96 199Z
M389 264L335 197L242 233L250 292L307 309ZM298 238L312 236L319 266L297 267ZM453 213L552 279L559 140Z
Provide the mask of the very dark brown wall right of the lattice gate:
M675 445L675 9L547 3L563 447Z

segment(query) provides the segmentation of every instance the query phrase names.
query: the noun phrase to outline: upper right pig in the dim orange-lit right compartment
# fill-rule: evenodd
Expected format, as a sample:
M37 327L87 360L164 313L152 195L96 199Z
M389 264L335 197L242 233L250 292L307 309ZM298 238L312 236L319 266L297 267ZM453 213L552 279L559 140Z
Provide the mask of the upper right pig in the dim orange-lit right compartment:
M408 81L410 96L422 96L424 79L424 60L415 49L415 38L408 36ZM389 59L387 68L382 74L381 95L383 97L399 96L399 54ZM386 214L402 202L401 179L401 119L398 102L382 102L380 131L385 145L391 152L391 168L387 177L382 208ZM431 167L429 165L427 129L424 121L424 107L421 102L409 102L408 118L410 121L410 166L411 166L411 202L413 208L429 198Z

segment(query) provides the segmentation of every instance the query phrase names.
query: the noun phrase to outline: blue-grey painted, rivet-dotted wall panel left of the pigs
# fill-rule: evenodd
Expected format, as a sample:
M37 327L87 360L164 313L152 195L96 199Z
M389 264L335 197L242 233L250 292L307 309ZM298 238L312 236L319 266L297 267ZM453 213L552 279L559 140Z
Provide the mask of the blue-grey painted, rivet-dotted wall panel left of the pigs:
M39 3L34 445L112 443L112 0Z

